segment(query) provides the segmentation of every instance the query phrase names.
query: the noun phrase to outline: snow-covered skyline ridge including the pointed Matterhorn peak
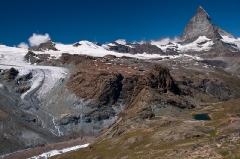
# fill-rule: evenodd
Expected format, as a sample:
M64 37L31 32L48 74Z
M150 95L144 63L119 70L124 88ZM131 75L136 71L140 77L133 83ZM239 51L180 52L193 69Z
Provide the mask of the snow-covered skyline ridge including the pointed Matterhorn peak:
M94 57L111 54L117 57L159 58L183 53L212 53L213 50L219 51L221 47L225 48L224 51L238 52L240 38L235 38L227 31L212 24L208 13L202 7L198 7L196 14L186 25L183 35L174 39L163 38L139 43L119 39L103 45L89 41L65 45L50 40L29 50L37 54L44 52L57 58L61 56L61 53L85 54Z

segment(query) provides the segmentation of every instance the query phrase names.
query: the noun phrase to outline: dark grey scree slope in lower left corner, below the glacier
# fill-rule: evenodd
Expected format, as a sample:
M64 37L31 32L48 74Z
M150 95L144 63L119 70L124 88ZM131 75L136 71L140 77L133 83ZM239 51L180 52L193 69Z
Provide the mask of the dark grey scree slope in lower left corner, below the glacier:
M13 107L14 96L7 99L5 95L9 94L0 92L0 155L57 142L54 135L43 131L36 116Z

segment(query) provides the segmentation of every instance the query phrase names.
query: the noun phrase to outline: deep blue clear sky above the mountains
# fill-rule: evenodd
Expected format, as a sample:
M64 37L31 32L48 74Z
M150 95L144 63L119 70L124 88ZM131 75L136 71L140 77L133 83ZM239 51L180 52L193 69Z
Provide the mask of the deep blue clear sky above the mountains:
M2 0L0 43L28 43L33 33L66 44L181 36L198 6L240 37L240 0Z

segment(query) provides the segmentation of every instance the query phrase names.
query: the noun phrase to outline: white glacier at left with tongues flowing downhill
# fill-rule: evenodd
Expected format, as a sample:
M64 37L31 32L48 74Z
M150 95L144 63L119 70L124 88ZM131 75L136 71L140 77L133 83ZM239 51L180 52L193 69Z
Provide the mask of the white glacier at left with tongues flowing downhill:
M66 77L68 70L61 67L30 65L24 61L27 52L27 49L0 45L0 69L14 67L19 71L19 76L31 72L33 75L32 86L21 97L23 99L29 92L42 84L37 91L38 97L42 98L50 92L56 82Z

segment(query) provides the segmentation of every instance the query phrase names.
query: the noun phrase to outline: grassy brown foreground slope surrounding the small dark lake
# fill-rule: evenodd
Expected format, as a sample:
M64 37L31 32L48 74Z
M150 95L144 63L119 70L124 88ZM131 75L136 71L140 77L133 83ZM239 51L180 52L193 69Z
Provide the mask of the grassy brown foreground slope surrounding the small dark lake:
M171 116L156 116L135 123L140 128L99 138L88 148L54 158L237 158L239 103L239 99L234 99ZM193 114L198 113L209 113L212 120L194 120Z

